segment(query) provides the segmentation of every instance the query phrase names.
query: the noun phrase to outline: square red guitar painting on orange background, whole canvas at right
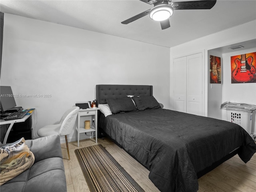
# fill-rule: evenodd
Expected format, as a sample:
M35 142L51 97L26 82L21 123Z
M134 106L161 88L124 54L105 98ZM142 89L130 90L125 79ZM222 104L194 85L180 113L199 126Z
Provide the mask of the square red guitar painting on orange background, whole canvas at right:
M256 82L256 52L231 57L231 83Z

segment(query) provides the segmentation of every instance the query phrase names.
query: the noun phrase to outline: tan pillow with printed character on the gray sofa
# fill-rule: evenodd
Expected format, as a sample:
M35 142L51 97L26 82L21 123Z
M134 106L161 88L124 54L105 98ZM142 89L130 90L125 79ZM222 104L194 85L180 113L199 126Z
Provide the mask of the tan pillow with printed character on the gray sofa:
M12 145L0 148L0 185L18 176L34 163L34 154L21 138Z

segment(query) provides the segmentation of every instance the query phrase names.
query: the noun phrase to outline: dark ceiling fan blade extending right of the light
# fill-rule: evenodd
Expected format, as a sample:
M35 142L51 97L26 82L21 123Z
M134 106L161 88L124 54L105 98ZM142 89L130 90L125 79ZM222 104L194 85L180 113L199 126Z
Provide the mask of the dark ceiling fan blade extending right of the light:
M202 1L173 2L171 6L174 10L211 9L215 4L216 4L216 0L202 0Z

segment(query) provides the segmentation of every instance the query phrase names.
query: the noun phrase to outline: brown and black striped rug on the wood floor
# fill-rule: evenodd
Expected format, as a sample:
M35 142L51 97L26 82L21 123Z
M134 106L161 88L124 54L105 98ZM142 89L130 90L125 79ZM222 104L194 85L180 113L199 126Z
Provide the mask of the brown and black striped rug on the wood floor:
M75 154L91 192L144 192L102 145Z

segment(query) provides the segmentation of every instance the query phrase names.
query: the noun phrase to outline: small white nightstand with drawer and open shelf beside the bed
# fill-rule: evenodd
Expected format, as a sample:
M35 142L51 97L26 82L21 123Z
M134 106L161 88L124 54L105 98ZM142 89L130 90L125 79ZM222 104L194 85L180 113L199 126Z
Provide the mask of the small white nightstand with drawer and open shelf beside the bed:
M97 123L98 123L98 110L100 108L89 108L89 109L80 109L78 111L78 119L77 119L77 126L76 126L76 131L77 131L77 146L79 147L79 135L80 133L86 133L86 132L92 132L92 138L93 138L93 132L95 131L95 140L97 143ZM91 127L90 129L85 129L84 128L84 124L82 125L82 127L80 126L80 117L81 116L94 116L95 119L95 127L92 127L92 123L91 123Z

